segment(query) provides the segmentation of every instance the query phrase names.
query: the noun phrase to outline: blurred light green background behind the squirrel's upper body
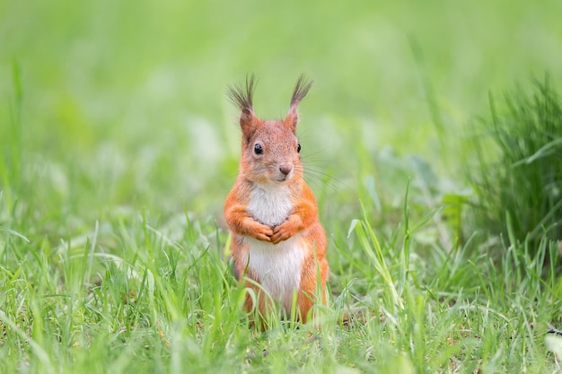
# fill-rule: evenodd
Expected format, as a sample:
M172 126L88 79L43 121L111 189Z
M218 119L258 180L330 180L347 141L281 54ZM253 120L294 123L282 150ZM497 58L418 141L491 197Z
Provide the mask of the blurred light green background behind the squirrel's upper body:
M220 222L240 152L226 85L255 73L258 115L284 117L303 73L303 159L323 219L347 228L373 180L384 204L403 197L385 154L465 187L488 92L561 76L560 14L559 1L0 2L3 204L61 235L119 209Z

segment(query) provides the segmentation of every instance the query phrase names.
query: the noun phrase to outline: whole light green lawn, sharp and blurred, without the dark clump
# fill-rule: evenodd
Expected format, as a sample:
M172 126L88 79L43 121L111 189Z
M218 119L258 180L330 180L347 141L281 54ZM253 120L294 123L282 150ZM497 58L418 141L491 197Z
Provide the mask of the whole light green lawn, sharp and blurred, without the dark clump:
M560 87L561 7L0 3L0 372L557 372L558 243L475 230L461 176L488 91ZM251 329L225 257L252 72L261 117L315 80L320 330Z

